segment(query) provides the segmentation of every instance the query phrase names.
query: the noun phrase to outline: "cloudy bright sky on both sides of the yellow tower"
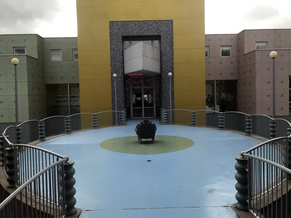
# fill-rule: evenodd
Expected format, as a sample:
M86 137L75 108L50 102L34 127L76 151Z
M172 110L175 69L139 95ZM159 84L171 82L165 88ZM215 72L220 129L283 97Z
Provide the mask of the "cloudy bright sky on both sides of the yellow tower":
M291 28L290 0L237 2L205 0L205 33ZM0 34L23 33L76 37L76 0L0 0Z

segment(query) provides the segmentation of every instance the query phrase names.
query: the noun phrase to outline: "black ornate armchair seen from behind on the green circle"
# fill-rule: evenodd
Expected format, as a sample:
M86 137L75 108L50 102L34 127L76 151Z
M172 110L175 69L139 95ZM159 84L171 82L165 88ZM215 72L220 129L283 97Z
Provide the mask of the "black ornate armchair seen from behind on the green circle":
M148 121L147 119L142 121L141 124L137 124L135 128L138 140L152 139L152 144L153 140L155 140L156 130L156 124L152 124L152 122Z

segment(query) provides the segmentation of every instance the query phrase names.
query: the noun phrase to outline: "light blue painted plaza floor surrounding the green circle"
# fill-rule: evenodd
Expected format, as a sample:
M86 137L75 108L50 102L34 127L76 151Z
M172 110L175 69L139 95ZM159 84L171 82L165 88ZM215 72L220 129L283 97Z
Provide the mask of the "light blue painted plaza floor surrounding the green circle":
M229 207L237 202L235 156L261 141L216 129L161 125L151 119L157 125L156 135L186 137L194 145L155 155L99 146L111 138L136 136L134 128L141 121L132 119L126 126L73 133L37 145L75 161L75 206L82 209L80 218L236 218ZM137 137L136 143L139 146Z

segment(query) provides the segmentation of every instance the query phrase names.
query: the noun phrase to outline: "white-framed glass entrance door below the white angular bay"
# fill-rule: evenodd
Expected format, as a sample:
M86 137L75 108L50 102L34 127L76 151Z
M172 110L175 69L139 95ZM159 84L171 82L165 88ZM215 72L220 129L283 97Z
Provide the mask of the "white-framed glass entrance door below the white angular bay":
M130 78L131 118L155 118L155 79L153 76Z

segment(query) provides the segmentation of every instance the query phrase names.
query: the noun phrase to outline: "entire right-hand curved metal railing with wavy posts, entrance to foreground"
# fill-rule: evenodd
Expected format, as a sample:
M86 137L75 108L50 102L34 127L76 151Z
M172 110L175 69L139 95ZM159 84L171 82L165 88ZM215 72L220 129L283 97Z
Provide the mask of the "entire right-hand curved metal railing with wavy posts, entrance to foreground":
M162 109L161 120L165 124L227 129L270 139L243 151L241 156L244 159L237 160L236 207L240 210L250 210L257 217L290 217L291 193L288 191L291 188L288 187L288 179L291 179L291 124L289 121L280 118L272 119L260 114L179 109ZM240 161L243 160L247 163L242 164Z

